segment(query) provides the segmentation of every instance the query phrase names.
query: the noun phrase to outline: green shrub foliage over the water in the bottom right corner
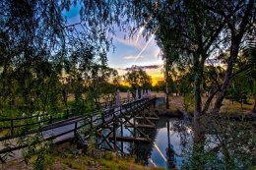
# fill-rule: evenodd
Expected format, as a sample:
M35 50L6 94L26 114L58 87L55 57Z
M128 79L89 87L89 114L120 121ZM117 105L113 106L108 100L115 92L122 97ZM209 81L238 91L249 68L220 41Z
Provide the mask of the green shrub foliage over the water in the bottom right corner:
M204 138L191 143L183 153L189 161L182 169L253 170L256 156L254 123L215 116L207 119L211 126L204 127Z

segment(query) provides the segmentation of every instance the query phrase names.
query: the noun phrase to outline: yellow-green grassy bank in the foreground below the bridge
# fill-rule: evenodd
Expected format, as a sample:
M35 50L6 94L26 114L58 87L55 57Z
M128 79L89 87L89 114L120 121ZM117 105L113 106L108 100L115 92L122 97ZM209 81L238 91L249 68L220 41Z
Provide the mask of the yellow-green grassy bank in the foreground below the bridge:
M92 157L81 153L73 146L62 144L53 147L50 153L44 155L41 166L47 170L162 170L136 163L133 157L119 157L114 152L98 153ZM22 159L0 164L0 169L5 170L33 170L35 159L33 156L27 165ZM38 168L40 169L40 168Z

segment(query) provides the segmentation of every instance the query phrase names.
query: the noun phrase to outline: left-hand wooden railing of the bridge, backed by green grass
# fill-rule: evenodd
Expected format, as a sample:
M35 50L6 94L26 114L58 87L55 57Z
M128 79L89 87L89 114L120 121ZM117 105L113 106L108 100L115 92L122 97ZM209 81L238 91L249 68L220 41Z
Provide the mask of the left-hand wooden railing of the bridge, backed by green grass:
M130 99L132 101L133 99ZM121 100L121 105L126 103L126 99ZM130 102L132 103L132 102ZM114 101L103 102L101 108L93 113L88 113L87 115L95 116L95 118L101 117L101 115L110 115L113 113L115 106ZM82 117L82 115L75 114L75 109L65 109L62 112L49 114L34 114L32 116L26 117L16 117L16 118L0 118L0 130L2 131L2 136L0 136L0 142L9 139L17 138L26 134L34 133L32 130L45 127L52 123L66 119L77 119ZM85 116L85 115L84 115ZM92 118L94 119L94 118ZM32 130L30 130L32 129Z

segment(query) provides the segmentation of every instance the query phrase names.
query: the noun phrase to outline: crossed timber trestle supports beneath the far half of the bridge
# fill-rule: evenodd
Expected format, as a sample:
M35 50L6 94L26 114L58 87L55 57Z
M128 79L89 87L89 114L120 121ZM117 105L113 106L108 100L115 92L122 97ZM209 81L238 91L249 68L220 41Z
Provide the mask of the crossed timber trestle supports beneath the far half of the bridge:
M156 129L156 122L159 117L152 115L154 106L155 100L153 99L144 104L135 102L132 105L128 104L125 107L120 107L118 116L113 114L113 119L105 126L101 126L102 130L107 129L107 131L101 133L99 147L102 148L108 145L108 149L123 153L124 142L131 142L133 145L136 142L152 142L148 134L150 131L147 129L149 127ZM125 136L125 131L128 131L131 136Z

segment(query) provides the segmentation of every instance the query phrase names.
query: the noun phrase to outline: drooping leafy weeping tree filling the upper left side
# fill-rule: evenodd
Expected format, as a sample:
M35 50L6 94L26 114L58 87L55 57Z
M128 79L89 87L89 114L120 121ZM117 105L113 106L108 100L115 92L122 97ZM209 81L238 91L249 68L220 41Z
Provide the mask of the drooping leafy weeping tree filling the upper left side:
M87 105L85 92L88 97L94 97L88 87L89 83L93 84L89 76L100 72L96 66L106 68L110 39L105 35L107 28L97 26L90 15L81 15L81 21L76 24L68 22L63 11L76 3L53 0L0 2L1 117L43 113L54 116L68 108L70 94L75 96L74 102L80 104L82 110ZM93 11L91 6L85 8ZM107 73L98 77L105 81ZM26 121L21 121L23 123ZM26 128L17 128L14 134L31 132L41 126L32 121L27 123ZM36 144L44 140L41 133L36 135L34 140L30 136L22 137L18 143L32 145L31 153L36 153ZM44 151L36 161L43 160L44 153L49 150ZM2 155L0 160L4 161Z

